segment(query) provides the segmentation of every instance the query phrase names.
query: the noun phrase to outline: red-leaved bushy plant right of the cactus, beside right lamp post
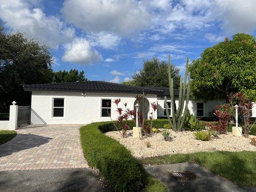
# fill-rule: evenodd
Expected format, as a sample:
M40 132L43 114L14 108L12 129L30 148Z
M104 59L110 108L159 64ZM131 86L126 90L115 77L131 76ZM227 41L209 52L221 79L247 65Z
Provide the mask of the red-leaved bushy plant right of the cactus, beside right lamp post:
M206 123L206 125L219 133L227 132L231 118L229 104L217 105L213 114L219 118L219 121L215 121L215 123Z

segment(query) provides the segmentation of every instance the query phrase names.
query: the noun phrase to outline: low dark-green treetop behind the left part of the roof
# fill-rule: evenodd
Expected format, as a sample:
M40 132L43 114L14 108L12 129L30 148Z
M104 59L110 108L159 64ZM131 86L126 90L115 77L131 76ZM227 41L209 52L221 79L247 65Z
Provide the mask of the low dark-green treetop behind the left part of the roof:
M54 83L84 82L84 81L88 81L88 79L85 78L84 71L78 72L78 70L71 69L69 72L65 70L54 72L52 81Z

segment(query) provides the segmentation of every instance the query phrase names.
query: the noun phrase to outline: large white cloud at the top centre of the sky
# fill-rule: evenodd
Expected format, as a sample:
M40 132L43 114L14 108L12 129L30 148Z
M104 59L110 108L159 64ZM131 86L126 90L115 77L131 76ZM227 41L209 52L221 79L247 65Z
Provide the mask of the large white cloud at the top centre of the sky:
M137 0L65 0L61 12L87 33L130 35L150 24L150 14Z

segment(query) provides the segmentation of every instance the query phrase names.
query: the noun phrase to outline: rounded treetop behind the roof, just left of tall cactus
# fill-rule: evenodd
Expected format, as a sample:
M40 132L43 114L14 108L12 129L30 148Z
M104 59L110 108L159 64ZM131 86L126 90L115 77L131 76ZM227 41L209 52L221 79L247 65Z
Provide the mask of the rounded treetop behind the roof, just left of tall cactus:
M173 87L178 88L180 85L180 69L171 65L171 76L173 78ZM151 86L151 87L168 87L168 64L165 61L159 61L157 58L145 60L143 69L135 72L133 77L134 85L136 86Z

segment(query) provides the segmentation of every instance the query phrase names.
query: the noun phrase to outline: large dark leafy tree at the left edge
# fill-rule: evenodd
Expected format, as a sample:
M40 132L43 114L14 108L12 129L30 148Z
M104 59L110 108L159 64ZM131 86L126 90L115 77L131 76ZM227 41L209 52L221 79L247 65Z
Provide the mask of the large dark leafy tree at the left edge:
M0 26L0 104L29 105L31 96L23 84L41 84L52 81L53 58L48 48L23 33L4 33Z

